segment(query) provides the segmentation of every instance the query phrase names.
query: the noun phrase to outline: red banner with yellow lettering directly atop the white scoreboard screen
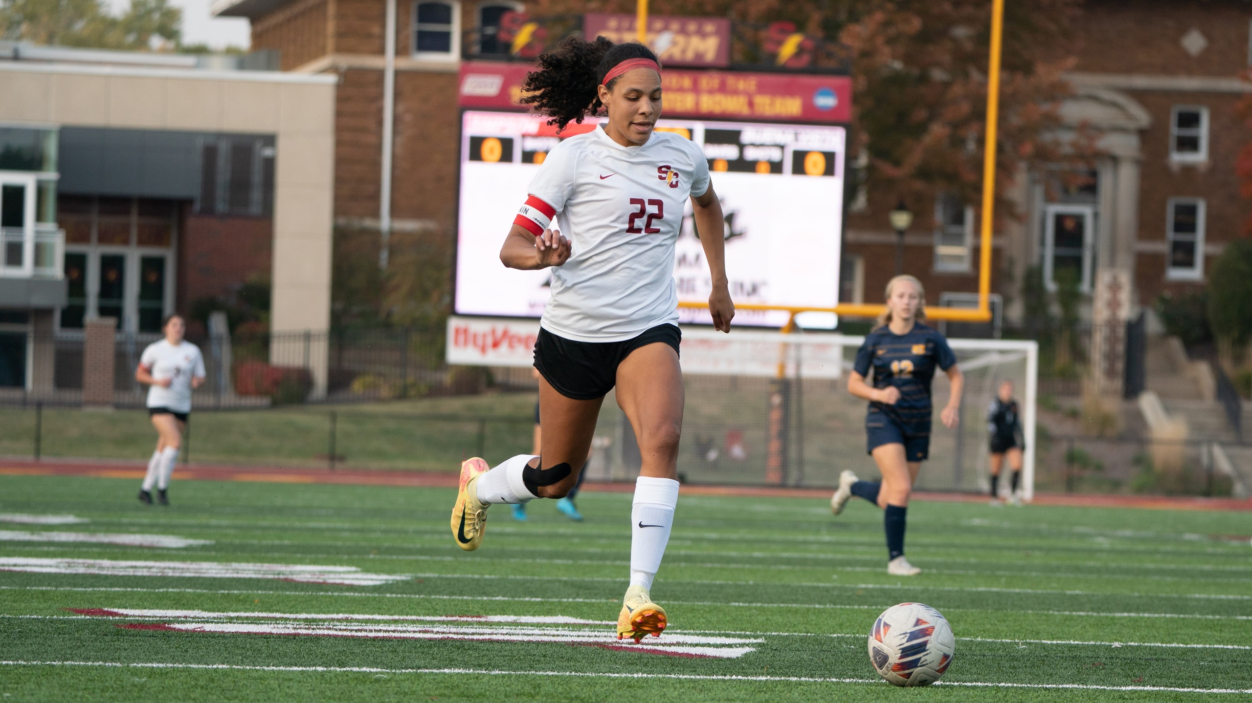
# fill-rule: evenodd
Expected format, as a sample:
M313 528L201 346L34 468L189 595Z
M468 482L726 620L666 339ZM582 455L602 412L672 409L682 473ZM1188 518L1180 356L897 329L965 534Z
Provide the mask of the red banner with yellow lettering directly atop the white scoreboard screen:
M462 61L462 108L521 110L531 64ZM814 74L756 74L666 69L661 73L664 115L720 120L846 124L851 80Z

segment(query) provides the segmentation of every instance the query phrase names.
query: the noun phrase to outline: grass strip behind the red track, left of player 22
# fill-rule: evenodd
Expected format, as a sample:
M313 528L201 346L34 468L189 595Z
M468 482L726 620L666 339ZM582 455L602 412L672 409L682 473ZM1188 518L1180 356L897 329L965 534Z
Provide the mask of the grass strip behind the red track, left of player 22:
M331 413L336 413L334 453L339 467L454 472L466 455L530 450L535 398L535 393L500 393L351 405L193 410L185 445L197 463L326 467ZM0 455L34 454L34 407L0 408ZM156 443L148 412L138 409L44 408L40 437L40 453L49 459L145 462Z

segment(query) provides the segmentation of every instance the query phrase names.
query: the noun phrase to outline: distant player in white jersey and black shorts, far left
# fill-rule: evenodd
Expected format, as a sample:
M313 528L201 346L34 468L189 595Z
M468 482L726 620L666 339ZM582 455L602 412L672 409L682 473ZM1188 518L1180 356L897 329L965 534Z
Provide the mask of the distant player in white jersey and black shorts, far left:
M165 339L154 341L139 357L135 380L148 384L148 414L156 428L156 450L148 460L139 500L151 505L153 487L162 505L169 505L165 493L169 477L183 445L183 430L192 412L192 389L204 383L204 357L200 348L183 339L187 323L170 315L162 326Z

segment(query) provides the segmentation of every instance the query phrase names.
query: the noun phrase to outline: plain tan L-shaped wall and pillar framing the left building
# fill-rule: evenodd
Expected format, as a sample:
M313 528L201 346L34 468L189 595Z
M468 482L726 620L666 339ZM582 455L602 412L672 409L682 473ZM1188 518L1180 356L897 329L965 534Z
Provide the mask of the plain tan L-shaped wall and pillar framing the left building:
M0 121L274 134L274 331L331 324L337 78L0 63ZM20 96L20 99L11 99ZM314 364L324 389L324 355Z

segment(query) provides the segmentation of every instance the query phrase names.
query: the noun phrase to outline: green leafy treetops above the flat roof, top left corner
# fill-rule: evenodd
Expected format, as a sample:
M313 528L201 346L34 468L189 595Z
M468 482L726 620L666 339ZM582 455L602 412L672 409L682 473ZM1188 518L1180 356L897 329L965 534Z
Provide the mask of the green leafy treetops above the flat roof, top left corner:
M60 46L177 48L183 11L168 0L130 0L113 15L101 0L0 0L0 38Z

